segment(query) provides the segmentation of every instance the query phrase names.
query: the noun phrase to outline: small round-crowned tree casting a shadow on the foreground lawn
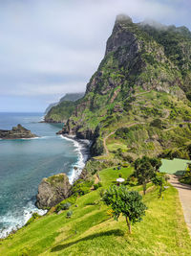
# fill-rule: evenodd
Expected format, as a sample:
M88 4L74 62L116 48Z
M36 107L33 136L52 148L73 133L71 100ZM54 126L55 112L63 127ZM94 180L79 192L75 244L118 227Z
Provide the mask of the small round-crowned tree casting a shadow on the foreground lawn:
M121 185L119 187L111 186L103 195L103 201L111 205L113 216L118 220L120 214L125 217L129 232L131 233L131 223L142 221L141 217L145 215L146 205L142 202L142 197L137 191L128 191Z

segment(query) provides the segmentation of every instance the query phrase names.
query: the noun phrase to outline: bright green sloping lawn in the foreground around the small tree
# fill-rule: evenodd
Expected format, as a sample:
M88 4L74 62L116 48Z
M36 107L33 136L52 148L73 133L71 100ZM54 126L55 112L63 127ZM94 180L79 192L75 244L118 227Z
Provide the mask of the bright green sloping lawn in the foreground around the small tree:
M123 217L110 219L99 191L115 182L118 173L125 178L132 168L101 171L103 187L77 198L71 219L63 212L34 221L1 241L0 255L190 255L191 240L178 192L171 186L163 199L155 189L143 198L148 210L131 235Z

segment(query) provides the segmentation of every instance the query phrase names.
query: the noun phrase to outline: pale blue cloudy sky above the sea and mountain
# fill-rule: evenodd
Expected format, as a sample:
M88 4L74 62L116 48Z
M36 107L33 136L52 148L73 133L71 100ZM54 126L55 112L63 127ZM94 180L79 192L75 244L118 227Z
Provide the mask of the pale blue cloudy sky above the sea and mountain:
M190 25L191 0L1 0L0 111L43 112L83 92L117 14Z

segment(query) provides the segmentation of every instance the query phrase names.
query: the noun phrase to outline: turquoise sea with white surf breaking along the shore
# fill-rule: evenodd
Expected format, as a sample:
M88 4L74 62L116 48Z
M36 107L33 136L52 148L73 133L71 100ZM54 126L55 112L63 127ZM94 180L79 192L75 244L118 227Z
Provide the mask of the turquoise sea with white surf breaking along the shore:
M83 167L79 144L55 134L61 124L39 123L42 113L0 113L0 129L21 124L39 136L34 139L0 140L0 237L22 226L37 210L38 184L43 177Z

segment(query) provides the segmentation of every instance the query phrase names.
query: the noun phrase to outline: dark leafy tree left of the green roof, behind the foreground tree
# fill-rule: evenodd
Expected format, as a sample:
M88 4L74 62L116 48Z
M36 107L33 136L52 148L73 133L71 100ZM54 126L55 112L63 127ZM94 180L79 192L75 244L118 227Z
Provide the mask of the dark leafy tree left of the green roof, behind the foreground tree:
M142 185L144 195L146 193L146 184L156 175L160 165L161 161L159 159L147 156L138 158L135 161L134 175L138 178L138 183Z

